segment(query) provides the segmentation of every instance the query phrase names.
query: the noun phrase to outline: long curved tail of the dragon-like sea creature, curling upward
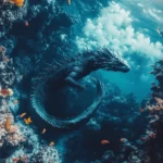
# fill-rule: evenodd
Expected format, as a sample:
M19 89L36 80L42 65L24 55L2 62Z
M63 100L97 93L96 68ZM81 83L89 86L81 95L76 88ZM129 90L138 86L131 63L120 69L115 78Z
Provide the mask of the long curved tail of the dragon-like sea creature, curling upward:
M41 86L40 86L41 87ZM41 87L42 88L42 87ZM41 118L43 118L47 123L51 124L55 128L71 128L75 127L78 124L82 124L83 122L87 121L92 113L98 109L100 105L102 98L104 96L104 87L101 84L100 79L96 79L96 88L97 88L97 98L95 99L93 103L86 109L82 114L71 117L71 118L57 118L50 114L48 114L43 108L43 99L41 96L42 90L37 88L35 93L32 96L32 103L36 112L40 115Z

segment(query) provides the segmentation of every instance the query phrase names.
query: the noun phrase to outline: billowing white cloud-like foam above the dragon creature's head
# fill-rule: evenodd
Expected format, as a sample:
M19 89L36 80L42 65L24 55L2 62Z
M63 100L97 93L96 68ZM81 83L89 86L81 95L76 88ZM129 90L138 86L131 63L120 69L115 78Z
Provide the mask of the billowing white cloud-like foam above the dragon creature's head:
M152 42L149 36L136 32L133 20L128 11L111 2L98 17L87 20L83 37L76 37L77 46L80 50L111 46L122 54L139 53L150 59L162 57L162 43Z

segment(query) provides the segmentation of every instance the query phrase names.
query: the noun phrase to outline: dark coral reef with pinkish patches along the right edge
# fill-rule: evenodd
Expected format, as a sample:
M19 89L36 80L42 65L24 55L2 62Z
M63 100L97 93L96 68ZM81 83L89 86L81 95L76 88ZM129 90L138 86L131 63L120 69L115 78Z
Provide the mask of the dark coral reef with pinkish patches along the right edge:
M149 122L146 127L147 129L145 128L146 133L137 140L134 150L126 158L123 158L124 161L129 163L163 162L163 60L158 61L153 65L153 71L150 74L155 76L158 83L152 84L152 95L143 110L147 113L146 116L149 118Z

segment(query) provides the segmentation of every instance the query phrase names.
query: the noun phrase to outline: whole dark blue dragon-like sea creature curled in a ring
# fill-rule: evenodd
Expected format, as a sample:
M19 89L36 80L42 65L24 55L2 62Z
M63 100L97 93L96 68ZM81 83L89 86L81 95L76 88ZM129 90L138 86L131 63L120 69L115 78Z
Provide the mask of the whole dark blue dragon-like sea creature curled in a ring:
M39 77L35 79L32 93L32 105L36 113L55 128L71 128L87 121L101 103L104 96L104 88L100 79L97 78L95 82L97 97L92 104L82 114L66 120L57 118L46 111L43 102L49 91L53 90L52 92L55 92L65 86L85 90L86 87L82 85L78 79L100 68L124 73L130 70L126 61L106 48L97 51L85 51L76 58L67 57L64 60L62 63L55 62L54 65L51 65L43 74L40 74Z

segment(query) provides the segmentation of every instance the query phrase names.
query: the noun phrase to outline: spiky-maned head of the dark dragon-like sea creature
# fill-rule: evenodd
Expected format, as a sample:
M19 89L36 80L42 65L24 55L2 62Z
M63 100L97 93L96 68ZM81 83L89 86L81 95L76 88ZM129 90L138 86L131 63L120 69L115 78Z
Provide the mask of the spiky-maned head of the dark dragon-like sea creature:
M110 49L100 49L96 52L96 66L106 71L127 73L130 66L117 53Z

